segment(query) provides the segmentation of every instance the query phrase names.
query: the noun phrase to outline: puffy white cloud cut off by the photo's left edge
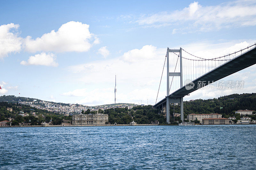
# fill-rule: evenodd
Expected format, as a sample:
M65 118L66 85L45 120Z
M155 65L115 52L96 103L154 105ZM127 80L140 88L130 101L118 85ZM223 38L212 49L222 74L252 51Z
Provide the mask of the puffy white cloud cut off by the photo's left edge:
M18 37L18 33L11 32L18 28L19 25L13 23L0 26L0 58L21 50L22 38Z

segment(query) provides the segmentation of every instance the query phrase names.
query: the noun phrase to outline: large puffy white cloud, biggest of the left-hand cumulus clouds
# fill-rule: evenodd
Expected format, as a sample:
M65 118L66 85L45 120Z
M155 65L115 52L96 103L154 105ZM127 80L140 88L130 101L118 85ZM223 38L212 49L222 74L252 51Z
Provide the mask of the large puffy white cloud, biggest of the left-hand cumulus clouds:
M89 32L89 25L70 21L60 26L58 31L52 30L35 40L28 36L24 46L29 52L85 52L92 47L92 43L98 44L99 42L99 39Z

